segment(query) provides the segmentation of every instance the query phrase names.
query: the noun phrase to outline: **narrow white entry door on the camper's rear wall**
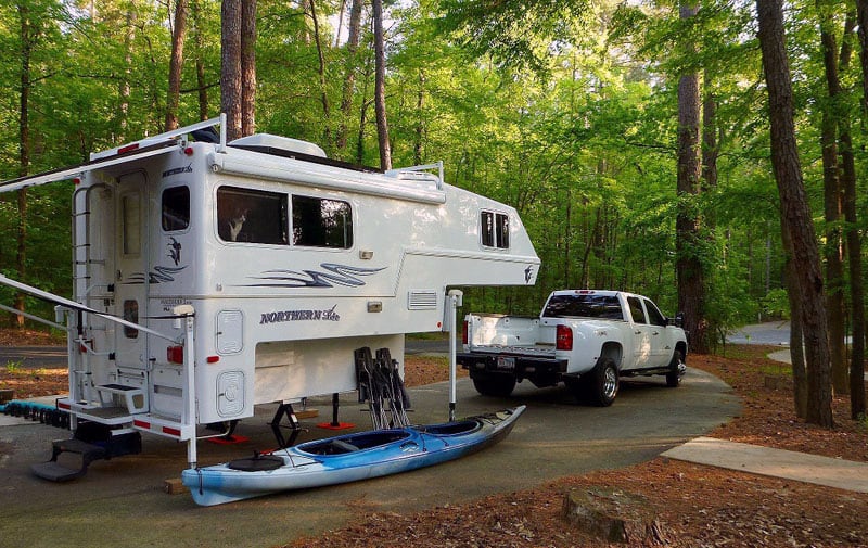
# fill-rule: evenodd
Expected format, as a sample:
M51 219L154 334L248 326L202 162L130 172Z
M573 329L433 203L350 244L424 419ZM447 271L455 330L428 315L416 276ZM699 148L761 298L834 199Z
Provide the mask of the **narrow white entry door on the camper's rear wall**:
M145 174L135 171L118 179L115 232L115 314L127 321L148 326L148 195ZM148 335L118 326L115 331L118 368L146 369Z

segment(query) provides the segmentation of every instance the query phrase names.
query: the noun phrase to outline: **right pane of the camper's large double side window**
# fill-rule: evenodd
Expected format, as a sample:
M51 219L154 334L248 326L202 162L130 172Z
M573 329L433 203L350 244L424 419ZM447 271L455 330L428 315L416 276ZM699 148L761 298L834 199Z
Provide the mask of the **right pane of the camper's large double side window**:
M353 246L353 212L339 200L292 196L292 243L348 250Z

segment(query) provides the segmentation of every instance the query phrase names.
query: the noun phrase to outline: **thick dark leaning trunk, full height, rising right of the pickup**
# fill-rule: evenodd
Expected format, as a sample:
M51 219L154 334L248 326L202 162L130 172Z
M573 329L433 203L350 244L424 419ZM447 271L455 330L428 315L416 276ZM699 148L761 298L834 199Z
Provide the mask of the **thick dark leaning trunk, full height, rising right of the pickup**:
M831 371L819 250L802 180L795 141L790 67L783 43L781 0L756 0L760 47L768 89L771 166L780 195L781 222L792 242L807 368L809 423L832 428Z

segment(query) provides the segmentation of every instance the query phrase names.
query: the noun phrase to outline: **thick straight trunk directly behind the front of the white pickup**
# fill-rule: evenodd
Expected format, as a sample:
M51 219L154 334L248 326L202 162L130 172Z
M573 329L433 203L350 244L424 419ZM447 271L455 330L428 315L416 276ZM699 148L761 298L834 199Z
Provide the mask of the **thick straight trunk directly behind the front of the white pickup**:
M680 18L698 13L693 2L684 1ZM692 44L690 44L692 48ZM692 352L707 353L704 315L705 277L700 253L700 219L694 197L700 192L700 91L699 74L685 74L678 80L678 213L675 220L678 309L685 314L685 330Z

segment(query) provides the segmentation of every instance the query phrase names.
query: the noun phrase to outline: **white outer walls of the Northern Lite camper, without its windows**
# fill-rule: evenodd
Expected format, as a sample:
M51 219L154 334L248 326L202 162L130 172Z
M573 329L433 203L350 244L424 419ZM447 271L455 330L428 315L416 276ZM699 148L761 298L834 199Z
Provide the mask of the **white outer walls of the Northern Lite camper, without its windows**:
M348 206L352 240L298 245L293 224L269 243L230 241L218 218L229 190L278 196L291 224L293 196ZM167 221L166 196L188 191L189 220ZM203 142L89 171L75 208L77 301L167 333L175 306L195 309L199 423L354 391L354 349L388 347L401 360L404 333L443 329L448 286L533 284L539 265L512 207L431 177ZM481 219L505 233L483 241ZM87 384L141 384L151 413L180 419L184 380L167 358L171 343L99 318L86 329L97 354L78 375L79 396Z

